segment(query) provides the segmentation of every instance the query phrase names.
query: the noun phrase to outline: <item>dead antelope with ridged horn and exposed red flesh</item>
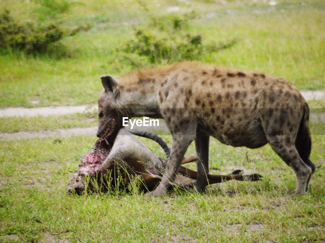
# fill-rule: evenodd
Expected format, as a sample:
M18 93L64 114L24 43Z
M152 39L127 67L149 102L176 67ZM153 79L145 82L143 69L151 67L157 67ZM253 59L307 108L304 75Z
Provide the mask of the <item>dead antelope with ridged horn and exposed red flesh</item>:
M151 133L141 133L126 129L120 129L114 138L114 120L110 122L107 131L96 142L89 153L82 158L78 172L73 174L68 185L68 192L83 194L85 190L96 192L98 190L107 191L119 186L125 189L137 177L140 181L139 189L143 191L153 190L162 179L162 171L166 166L166 159L155 156L143 143L141 143L134 133L139 136L150 138L159 143L167 156L170 149L167 144L157 135ZM183 159L183 163L196 160L196 156L189 156ZM110 172L110 178L105 177L100 172L100 166L105 161L105 171ZM106 174L107 175L107 174ZM117 181L120 177L120 183ZM86 183L86 179L95 179L92 183ZM186 188L195 185L197 173L186 167L180 166L179 174L175 179L175 185ZM219 183L226 180L249 180L255 181L261 178L258 174L243 175L240 170L235 170L229 175L207 175L210 184ZM110 180L110 183L108 182Z

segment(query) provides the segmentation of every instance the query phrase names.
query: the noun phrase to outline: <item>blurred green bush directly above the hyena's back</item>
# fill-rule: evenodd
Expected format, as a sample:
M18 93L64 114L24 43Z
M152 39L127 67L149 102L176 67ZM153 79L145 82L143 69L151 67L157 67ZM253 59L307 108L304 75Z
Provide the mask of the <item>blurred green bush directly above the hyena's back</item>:
M135 29L134 37L124 42L117 51L122 52L123 58L127 58L131 53L146 57L149 63L172 63L197 59L201 55L228 48L236 43L237 40L234 39L228 43L203 44L201 35L192 35L188 31L189 21L196 17L194 12L182 16L149 15L148 24ZM134 56L130 59L135 62Z

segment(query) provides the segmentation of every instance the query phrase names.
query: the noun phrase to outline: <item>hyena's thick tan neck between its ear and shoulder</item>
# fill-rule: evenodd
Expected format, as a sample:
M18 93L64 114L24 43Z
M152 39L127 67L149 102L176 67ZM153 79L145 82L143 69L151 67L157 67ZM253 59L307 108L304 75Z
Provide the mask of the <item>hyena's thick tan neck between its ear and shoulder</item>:
M121 83L118 85L117 104L123 116L162 118L157 99L158 80L156 83L156 79L139 79L135 76L134 80Z

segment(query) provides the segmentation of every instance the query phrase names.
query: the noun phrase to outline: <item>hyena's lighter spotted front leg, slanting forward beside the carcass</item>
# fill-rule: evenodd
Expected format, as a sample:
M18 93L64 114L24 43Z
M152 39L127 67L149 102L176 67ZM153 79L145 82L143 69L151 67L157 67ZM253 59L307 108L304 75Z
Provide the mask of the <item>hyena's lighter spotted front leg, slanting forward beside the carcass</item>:
M166 193L167 189L175 180L178 168L182 162L188 145L190 145L195 137L194 133L192 134L173 134L172 151L168 159L162 180L154 191L148 192L146 195L157 197Z

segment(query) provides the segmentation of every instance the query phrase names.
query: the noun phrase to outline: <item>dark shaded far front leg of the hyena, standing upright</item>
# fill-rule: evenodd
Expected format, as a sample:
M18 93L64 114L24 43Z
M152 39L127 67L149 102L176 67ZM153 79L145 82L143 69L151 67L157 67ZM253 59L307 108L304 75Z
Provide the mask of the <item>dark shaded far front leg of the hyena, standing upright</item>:
M207 174L209 174L209 136L196 134L195 148L198 157L195 188L199 192L205 192Z

